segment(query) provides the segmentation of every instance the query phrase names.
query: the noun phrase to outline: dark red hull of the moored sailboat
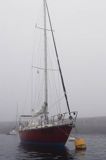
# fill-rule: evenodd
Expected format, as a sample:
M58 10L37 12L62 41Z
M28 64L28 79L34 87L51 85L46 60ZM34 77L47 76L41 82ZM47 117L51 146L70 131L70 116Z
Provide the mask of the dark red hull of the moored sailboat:
M19 131L21 142L64 145L72 130L72 125L52 126Z

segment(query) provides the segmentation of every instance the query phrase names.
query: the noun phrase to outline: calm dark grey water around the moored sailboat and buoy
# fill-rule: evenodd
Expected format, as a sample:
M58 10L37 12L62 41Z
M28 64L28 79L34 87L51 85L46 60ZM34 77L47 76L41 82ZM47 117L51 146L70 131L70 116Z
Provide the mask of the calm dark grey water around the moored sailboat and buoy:
M106 160L106 135L80 137L86 139L86 151L75 151L73 142L62 149L23 146L18 136L0 135L0 160Z

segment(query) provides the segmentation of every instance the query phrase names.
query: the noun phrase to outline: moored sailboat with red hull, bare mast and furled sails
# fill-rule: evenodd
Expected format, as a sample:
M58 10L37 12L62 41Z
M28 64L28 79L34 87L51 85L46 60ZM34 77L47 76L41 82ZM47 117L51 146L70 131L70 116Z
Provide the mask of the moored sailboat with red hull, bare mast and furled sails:
M68 102L66 87L59 62L54 31L52 28L51 17L46 0L43 0L44 7L44 102L37 113L30 115L21 115L19 119L19 136L22 143L49 146L64 146L68 140L72 128L75 126L77 112L71 112ZM47 63L47 26L48 17L50 32L52 35L53 46L55 50L56 61L62 84L62 90L68 112L57 115L49 115L50 104L48 104L48 63Z

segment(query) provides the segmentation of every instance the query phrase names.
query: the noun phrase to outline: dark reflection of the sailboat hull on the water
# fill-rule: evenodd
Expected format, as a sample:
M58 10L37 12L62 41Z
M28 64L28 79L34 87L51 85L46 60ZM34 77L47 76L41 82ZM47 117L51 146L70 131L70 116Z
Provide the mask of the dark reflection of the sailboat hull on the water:
M21 150L20 156L23 154L23 157L26 159L44 159L44 160L52 160L52 159L74 159L74 155L71 154L67 147L41 147L35 145L26 145L20 144L19 150Z

